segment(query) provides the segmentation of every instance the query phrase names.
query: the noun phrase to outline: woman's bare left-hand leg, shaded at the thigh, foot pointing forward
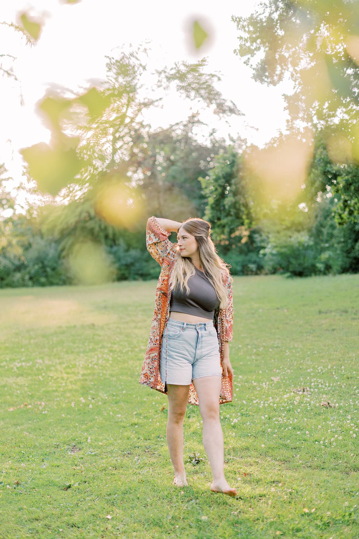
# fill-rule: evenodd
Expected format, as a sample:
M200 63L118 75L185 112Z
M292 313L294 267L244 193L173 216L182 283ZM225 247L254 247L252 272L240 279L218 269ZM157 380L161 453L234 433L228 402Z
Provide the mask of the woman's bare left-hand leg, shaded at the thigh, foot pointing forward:
M183 420L188 402L189 385L167 384L168 420L166 439L174 468L174 483L188 485L183 460Z

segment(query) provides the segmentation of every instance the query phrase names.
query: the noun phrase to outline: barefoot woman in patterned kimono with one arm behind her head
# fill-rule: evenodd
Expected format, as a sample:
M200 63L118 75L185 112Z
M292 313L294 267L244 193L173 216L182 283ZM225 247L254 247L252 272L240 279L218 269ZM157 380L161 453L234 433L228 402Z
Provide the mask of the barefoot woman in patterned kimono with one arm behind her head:
M178 243L168 240L177 231ZM236 496L223 471L219 405L233 398L229 344L233 338L233 291L225 262L216 254L210 224L154 216L147 221L147 250L161 265L156 305L140 383L168 397L166 439L173 483L187 485L183 420L187 403L199 404L203 446L212 468L210 489Z

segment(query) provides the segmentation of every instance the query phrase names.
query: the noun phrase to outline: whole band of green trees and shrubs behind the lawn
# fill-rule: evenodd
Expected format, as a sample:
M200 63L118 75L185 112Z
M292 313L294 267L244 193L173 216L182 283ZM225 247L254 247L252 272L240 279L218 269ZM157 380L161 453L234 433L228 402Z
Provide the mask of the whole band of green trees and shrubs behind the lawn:
M359 130L350 106L354 42L347 39L347 52L339 47L330 60L329 15L321 1L306 2L305 10L303 2L262 3L262 11L247 20L252 25L247 37L243 33L240 39L241 56L265 51L256 80L278 84L290 72L297 84L293 96L286 96L290 132L261 150L242 139L228 147L215 132L200 143L198 113L167 129L145 125L145 109L173 86L222 118L242 114L217 91L220 78L206 72L205 59L156 71L154 100L144 97L147 51L139 49L107 57L107 79L97 88L72 96L47 93L39 110L51 142L22 154L37 191L59 197L24 216L8 216L3 212L15 207L15 199L0 192L0 286L156 278L157 265L144 256L149 215L209 220L233 274L358 271ZM328 23L323 33L319 15ZM244 19L236 22L244 32ZM311 38L313 28L318 42ZM290 39L292 31L301 36L299 42ZM310 54L309 45L316 53ZM348 71L340 54L350 56ZM295 58L302 63L295 64ZM323 66L329 77L324 82ZM350 80L350 87L344 88L342 79ZM334 122L344 89L347 118ZM297 122L311 130L302 131Z

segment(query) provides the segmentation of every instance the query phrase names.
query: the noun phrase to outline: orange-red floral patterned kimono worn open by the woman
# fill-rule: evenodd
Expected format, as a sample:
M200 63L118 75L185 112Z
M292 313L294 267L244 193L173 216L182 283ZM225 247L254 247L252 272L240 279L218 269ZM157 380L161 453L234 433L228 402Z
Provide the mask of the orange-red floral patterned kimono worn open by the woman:
M154 313L150 330L150 337L145 353L145 360L142 367L139 383L149 385L150 388L165 393L165 383L161 381L159 374L159 361L161 342L165 326L170 317L170 300L172 291L169 290L169 280L175 262L177 243L172 243L168 236L171 232L163 229L156 217L150 217L147 221L146 245L147 251L152 258L161 266L156 288L156 298ZM231 341L233 338L233 291L230 277L226 271L222 273L223 284L227 288L228 306L220 309L216 308L213 324L216 328L219 342L219 350L222 358L224 352L224 341ZM233 399L233 385L231 378L225 377L222 367L222 385L220 392L220 404L231 402ZM198 405L198 395L194 385L189 386L188 403Z

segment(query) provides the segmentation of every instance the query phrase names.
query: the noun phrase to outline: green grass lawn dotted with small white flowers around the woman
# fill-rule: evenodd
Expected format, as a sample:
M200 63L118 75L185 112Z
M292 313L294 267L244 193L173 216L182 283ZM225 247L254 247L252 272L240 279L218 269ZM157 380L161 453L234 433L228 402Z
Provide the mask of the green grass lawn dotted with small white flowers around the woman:
M197 406L172 486L167 397L138 383L156 282L0 290L0 537L358 538L359 275L235 277L237 499Z

